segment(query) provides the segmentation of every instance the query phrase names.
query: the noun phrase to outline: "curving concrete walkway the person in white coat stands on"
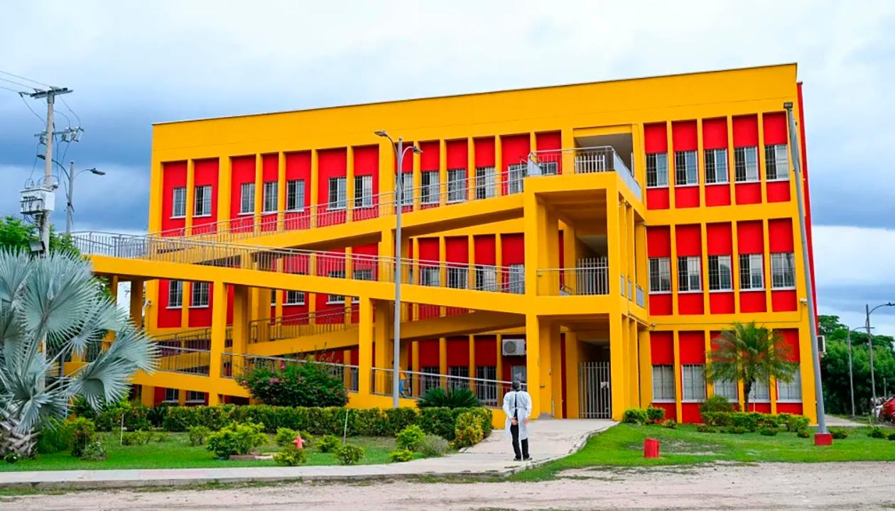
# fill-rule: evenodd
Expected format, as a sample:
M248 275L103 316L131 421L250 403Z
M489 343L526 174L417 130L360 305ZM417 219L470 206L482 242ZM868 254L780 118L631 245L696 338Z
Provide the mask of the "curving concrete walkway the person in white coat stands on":
M452 456L398 464L193 468L151 470L79 470L0 473L0 488L92 489L166 487L214 482L365 481L420 476L507 476L567 456L593 434L614 425L602 420L550 420L529 423L532 460L513 461L503 430Z

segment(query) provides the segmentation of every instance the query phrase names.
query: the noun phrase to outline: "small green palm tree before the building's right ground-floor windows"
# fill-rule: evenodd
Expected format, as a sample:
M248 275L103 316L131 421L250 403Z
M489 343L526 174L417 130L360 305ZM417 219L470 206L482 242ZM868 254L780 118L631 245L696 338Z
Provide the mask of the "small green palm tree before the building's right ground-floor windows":
M744 410L755 381L792 381L798 362L790 362L791 348L779 332L758 327L755 322L734 323L712 339L712 356L706 367L709 381L743 381Z

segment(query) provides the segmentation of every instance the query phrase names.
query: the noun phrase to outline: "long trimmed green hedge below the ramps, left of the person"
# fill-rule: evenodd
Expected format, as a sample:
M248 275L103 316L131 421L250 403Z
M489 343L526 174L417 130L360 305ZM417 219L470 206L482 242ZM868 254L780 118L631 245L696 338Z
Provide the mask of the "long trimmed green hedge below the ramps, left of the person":
M491 411L487 408L311 408L269 405L172 406L162 425L168 431L186 431L192 426L220 430L231 422L264 424L268 433L279 428L307 431L313 435L342 436L347 414L347 434L364 437L394 437L398 431L416 424L426 433L453 440L456 418L472 412L482 422L482 431L491 431Z

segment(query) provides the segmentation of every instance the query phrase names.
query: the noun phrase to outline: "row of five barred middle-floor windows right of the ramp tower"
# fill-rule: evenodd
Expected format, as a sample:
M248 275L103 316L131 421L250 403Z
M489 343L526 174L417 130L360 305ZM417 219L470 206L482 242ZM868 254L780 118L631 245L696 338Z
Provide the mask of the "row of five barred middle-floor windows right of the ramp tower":
M739 288L741 291L764 289L762 254L739 254ZM678 257L678 293L703 291L702 258ZM733 266L729 255L708 258L709 291L733 291ZM796 263L793 252L771 253L771 289L793 289L796 286ZM650 293L671 292L671 258L649 259Z

